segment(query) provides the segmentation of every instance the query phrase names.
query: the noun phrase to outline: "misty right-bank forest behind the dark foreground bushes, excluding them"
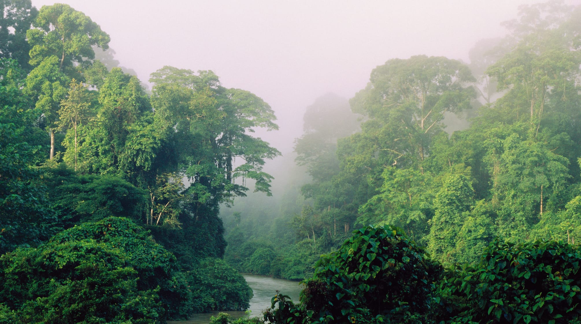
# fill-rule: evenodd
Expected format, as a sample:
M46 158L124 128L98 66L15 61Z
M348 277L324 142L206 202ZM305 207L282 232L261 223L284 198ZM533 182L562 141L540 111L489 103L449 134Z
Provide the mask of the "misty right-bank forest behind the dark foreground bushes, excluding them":
M494 238L579 241L579 14L524 6L506 37L476 42L469 63L391 59L350 110L330 95L315 101L295 142L303 169L292 173L310 179L300 194L289 186L267 228L235 206L242 222L225 216L238 240L225 259L308 278L321 253L365 225L400 227L444 265L478 261Z

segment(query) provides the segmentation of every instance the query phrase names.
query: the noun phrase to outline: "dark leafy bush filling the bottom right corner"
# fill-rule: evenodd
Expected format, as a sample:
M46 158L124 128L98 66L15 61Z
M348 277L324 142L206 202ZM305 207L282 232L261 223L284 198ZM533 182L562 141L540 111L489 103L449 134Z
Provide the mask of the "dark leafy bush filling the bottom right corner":
M496 240L479 264L459 272L444 297L464 309L449 323L573 323L581 314L581 253L564 242ZM458 300L463 302L458 303ZM459 312L460 314L454 314Z

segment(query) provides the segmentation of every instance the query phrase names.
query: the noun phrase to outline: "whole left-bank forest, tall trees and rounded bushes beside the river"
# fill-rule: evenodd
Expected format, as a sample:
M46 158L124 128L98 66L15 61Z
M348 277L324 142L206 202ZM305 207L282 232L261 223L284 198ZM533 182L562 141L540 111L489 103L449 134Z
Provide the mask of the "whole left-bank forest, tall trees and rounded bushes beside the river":
M248 179L270 195L279 152L253 136L278 128L270 106L168 66L149 93L84 13L0 5L0 322L245 310L218 212Z

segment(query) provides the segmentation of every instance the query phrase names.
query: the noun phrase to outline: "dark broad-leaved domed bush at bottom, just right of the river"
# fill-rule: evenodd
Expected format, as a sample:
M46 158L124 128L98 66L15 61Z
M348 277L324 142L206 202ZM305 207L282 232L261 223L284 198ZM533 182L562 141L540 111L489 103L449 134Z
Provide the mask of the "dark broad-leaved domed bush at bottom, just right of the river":
M275 323L433 322L434 282L441 275L441 266L399 229L366 227L354 231L337 252L321 257L313 278L305 282L301 305L277 295L267 319Z

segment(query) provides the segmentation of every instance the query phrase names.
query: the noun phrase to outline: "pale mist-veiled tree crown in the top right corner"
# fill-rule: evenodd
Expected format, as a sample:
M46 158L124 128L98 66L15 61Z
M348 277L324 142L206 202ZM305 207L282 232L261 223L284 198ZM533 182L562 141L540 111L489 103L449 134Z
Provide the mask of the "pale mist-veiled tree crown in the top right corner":
M487 69L497 78L498 90L508 89L497 105L510 107L511 119L529 119L535 134L547 113L563 110L563 101L575 96L581 62L578 14L558 2L523 6L520 19L507 23L517 38L515 48Z

